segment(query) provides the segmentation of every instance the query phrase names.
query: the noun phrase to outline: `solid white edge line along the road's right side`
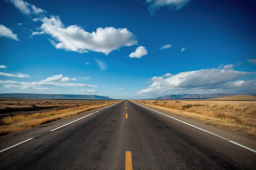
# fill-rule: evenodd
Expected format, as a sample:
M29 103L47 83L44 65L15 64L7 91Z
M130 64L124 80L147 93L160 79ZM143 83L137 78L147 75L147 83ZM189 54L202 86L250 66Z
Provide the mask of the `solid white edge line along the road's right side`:
M133 102L133 103L135 103L135 102ZM135 103L135 104L137 104L137 103ZM142 106L142 105L140 105L140 104L137 104L137 105ZM146 107L146 106L142 106L142 107L147 108L147 109L149 109L149 110L153 110L153 109L148 108L148 107ZM226 139L225 137L221 137L221 136L219 136L219 135L216 135L216 134L213 133L213 132L209 132L209 131L204 130L204 129L202 129L202 128L198 128L197 126L188 124L188 123L186 123L186 122L184 122L184 121L181 121L181 120L179 120L179 119L176 119L176 118L171 117L171 116L168 116L168 115L165 115L164 113L158 112L158 111L156 111L156 110L153 110L153 111L155 111L155 112L157 112L157 113L160 113L160 114L162 114L162 115L164 115L164 116L167 116L167 117L169 117L169 118L171 118L171 119L175 119L175 120L177 120L177 121L180 121L180 122L182 122L182 123L184 123L184 124L187 124L187 125L189 125L189 126L192 126L192 127L194 127L194 128L197 128L197 129L199 129L199 130L202 130L202 131L204 131L204 132L210 133L211 135L214 135L214 136L216 136L216 137L219 137L219 138L221 138L221 139L224 139L224 140L226 140L226 141L229 141L229 142L231 142L232 144L235 144L235 145L237 145L237 146L240 146L240 147L242 147L242 148L245 148L245 149L247 149L247 150L250 150L250 151L256 153L256 150L254 150L254 149L252 149L252 148L248 148L247 146L243 146L243 145L241 145L241 144L238 144L238 143L236 143L236 142L234 142L234 141L231 141L231 140L229 140L229 139Z

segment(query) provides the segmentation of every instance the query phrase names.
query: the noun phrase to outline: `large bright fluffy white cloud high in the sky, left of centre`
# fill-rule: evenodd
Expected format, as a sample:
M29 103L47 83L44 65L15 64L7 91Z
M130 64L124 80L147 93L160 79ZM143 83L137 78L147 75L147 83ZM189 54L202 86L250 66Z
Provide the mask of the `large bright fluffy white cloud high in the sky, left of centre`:
M137 44L136 36L126 28L97 28L89 33L77 25L65 27L58 16L41 18L43 24L40 29L51 35L52 44L56 49L88 53L88 51L101 52L108 55L122 46Z

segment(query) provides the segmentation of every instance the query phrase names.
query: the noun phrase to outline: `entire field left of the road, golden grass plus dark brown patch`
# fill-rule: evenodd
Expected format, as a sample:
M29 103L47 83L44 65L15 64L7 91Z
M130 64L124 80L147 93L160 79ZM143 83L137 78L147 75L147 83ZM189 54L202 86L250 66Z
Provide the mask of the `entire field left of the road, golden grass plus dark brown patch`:
M114 104L118 101L106 102ZM1 100L0 136L106 106L106 102L105 100Z

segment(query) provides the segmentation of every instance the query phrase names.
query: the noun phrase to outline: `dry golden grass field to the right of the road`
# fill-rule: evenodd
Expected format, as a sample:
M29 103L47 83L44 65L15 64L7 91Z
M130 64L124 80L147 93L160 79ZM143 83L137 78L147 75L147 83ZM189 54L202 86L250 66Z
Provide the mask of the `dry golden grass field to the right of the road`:
M232 96L218 99L141 100L140 102L207 124L256 136L256 97L254 96L249 99L246 96Z

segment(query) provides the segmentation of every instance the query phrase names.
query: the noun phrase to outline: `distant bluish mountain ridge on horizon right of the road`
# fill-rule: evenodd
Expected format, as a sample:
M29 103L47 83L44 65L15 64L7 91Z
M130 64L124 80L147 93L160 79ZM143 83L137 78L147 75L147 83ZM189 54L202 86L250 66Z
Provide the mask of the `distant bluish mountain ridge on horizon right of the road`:
M217 93L217 94L184 94L184 95L166 95L161 97L154 97L151 99L161 100L161 99L198 99L198 98L216 98L216 97L225 97L232 96L237 94L229 94L229 93Z

